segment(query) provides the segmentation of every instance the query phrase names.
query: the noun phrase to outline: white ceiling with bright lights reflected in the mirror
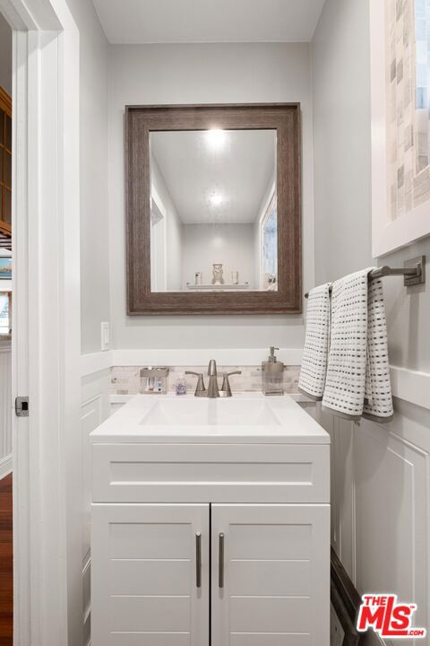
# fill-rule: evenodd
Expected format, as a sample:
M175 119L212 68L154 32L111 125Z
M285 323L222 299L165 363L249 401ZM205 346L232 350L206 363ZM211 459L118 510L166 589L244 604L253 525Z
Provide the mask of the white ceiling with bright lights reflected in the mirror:
M276 132L151 132L150 152L183 223L254 223L274 180Z

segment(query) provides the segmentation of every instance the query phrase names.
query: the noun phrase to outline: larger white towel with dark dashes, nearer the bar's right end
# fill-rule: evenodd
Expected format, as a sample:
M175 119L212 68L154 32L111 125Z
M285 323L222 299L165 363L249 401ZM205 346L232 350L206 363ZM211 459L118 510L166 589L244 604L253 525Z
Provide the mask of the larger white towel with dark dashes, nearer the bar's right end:
M368 283L372 269L333 284L323 408L347 419L388 422L393 411L383 284Z

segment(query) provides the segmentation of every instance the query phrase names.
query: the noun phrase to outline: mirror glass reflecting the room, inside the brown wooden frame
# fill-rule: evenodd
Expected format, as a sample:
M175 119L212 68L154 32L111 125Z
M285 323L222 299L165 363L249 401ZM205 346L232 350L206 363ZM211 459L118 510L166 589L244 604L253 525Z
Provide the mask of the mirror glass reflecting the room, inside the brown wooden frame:
M150 132L151 292L277 291L276 130Z

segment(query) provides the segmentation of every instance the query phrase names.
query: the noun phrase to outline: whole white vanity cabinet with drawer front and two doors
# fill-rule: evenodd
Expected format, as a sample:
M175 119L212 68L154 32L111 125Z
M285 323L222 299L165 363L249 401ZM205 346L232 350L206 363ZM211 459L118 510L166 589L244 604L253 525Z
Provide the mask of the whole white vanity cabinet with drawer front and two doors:
M116 415L92 438L91 646L329 646L314 420L314 435L139 441L119 418L115 436Z

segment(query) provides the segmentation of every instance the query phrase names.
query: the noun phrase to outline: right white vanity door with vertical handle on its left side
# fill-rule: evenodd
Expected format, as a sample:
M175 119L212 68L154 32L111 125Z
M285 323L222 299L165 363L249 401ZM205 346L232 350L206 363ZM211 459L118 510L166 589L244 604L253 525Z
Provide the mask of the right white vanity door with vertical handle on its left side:
M212 646L329 646L330 506L212 505Z

